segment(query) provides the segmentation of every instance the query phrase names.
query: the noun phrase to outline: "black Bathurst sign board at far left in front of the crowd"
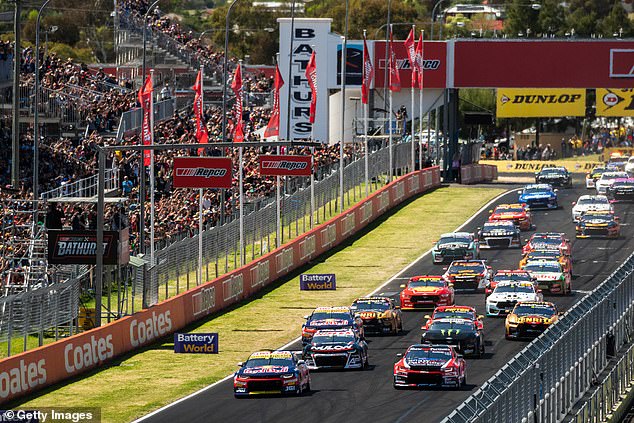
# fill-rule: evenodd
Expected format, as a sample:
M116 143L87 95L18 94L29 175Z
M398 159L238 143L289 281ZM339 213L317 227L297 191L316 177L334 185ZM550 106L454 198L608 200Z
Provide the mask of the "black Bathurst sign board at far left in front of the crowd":
M125 242L128 244L125 229ZM128 260L119 263L119 253ZM97 231L48 231L48 262L50 264L95 264L97 260ZM119 232L103 233L103 264L126 264L130 258L129 245L127 252L120 251Z

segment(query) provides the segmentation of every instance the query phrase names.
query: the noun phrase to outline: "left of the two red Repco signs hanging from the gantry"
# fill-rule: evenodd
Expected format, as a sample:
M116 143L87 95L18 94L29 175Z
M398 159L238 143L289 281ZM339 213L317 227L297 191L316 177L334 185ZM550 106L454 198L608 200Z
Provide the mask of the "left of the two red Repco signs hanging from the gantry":
M174 158L174 188L231 188L228 157Z

